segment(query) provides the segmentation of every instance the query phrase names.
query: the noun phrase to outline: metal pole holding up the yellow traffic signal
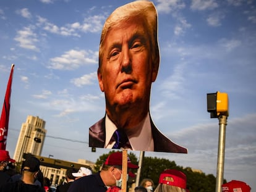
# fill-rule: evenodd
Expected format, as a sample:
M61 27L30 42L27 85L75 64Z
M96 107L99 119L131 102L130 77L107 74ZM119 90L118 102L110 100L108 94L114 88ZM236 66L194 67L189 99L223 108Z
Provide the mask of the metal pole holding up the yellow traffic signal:
M223 172L224 172L224 157L225 157L225 138L226 138L226 125L228 117L220 115L219 119L219 148L218 148L218 163L217 163L217 175L216 175L216 192L221 192L221 185L223 184Z

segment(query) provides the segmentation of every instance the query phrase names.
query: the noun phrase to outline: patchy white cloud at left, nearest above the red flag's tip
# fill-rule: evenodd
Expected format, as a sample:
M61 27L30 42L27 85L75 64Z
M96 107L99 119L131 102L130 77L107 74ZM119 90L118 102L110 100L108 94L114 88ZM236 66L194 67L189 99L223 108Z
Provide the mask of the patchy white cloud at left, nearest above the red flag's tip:
M14 40L19 42L21 48L39 51L35 45L35 43L38 42L38 39L36 33L33 32L32 27L23 27L23 30L17 31Z

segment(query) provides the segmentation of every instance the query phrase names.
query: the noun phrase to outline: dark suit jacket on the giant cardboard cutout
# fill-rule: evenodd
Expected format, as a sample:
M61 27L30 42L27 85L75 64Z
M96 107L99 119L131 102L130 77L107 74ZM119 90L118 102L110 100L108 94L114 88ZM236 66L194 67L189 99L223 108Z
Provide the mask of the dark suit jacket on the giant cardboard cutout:
M158 128L154 125L150 118L151 131L154 141L154 151L158 152L179 152L187 153L186 148L173 143L166 136L164 136ZM104 148L106 138L105 117L96 122L89 128L89 146L94 148Z

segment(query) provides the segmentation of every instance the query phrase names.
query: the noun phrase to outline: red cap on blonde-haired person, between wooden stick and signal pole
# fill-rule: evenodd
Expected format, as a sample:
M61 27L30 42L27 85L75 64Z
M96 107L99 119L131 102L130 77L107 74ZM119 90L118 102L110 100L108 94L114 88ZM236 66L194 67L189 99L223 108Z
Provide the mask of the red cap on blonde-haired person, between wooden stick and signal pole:
M171 177L172 179L166 180L166 177ZM160 174L159 183L186 189L187 177L179 170L167 169Z

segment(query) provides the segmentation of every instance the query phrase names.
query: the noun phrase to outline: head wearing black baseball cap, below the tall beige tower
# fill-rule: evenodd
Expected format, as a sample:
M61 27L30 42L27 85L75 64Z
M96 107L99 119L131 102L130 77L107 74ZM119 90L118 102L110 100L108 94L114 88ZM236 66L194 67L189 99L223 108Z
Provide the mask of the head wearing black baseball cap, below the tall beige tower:
M22 163L22 180L25 183L34 183L40 173L40 161L36 157L28 157Z

